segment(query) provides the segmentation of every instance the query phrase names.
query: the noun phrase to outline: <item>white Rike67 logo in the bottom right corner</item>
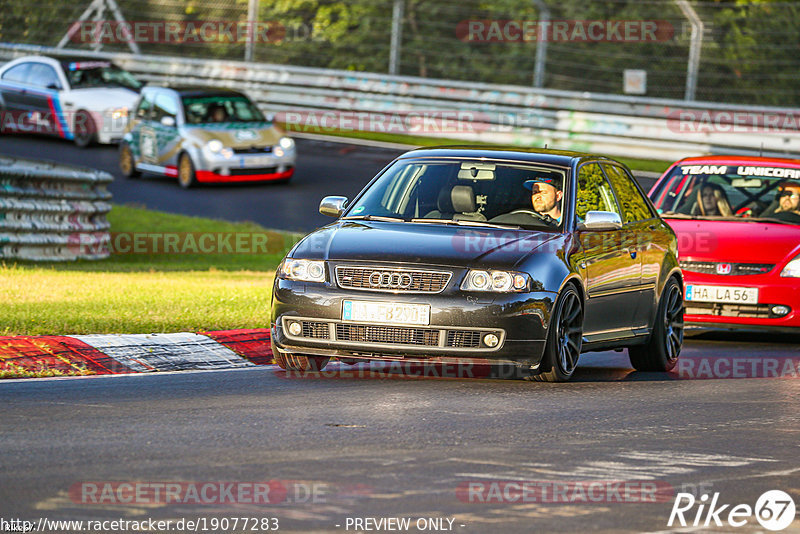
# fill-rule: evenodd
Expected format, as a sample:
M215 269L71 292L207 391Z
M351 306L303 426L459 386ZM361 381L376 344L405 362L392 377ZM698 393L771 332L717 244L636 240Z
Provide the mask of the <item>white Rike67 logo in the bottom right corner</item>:
M697 499L691 493L678 493L667 526L671 527L677 523L676 526L682 527L738 528L747 525L755 516L763 528L778 531L792 524L795 512L794 500L781 490L764 492L756 500L755 507L749 504L723 504L719 501L719 492L714 493L710 502L708 494L703 494Z

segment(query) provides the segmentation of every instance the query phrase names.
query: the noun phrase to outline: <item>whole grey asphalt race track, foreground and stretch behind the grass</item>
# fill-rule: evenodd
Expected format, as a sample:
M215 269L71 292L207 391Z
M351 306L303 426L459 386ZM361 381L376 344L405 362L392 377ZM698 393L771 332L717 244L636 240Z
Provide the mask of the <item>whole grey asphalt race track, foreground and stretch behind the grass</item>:
M288 185L183 191L172 180L120 178L111 189L116 202L309 230L326 222L314 215L321 196L352 196L397 154L298 146ZM109 147L82 151L57 140L3 137L0 153L119 177ZM369 375L341 364L302 378L266 366L4 381L0 519L276 517L285 532L356 532L368 530L347 528L348 518L407 517L412 525L452 519L452 531L464 533L763 532L754 517L736 529L713 522L669 528L667 521L680 491L698 498L719 492L720 503L754 506L764 491L780 489L800 505L800 374L734 378L767 361L796 371L800 342L706 333L687 340L683 361L689 371L682 375L647 374L634 372L625 353L590 353L568 384L451 378L452 369L446 378L392 368ZM707 373L698 372L704 364ZM266 505L92 504L70 495L91 481L273 481L288 493ZM546 481L573 488L647 481L667 497L619 502L610 491L608 502L541 502L548 499L512 491L486 503L459 492L470 483L503 491ZM690 524L697 510L686 513ZM800 532L800 522L783 532Z

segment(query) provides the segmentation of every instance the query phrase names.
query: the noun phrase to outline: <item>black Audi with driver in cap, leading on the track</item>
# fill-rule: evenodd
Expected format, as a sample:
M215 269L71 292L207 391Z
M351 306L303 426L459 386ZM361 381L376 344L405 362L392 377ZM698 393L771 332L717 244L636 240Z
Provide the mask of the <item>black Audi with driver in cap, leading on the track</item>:
M280 367L331 357L513 363L565 381L582 352L673 368L683 342L675 233L614 160L542 149L407 152L278 268Z

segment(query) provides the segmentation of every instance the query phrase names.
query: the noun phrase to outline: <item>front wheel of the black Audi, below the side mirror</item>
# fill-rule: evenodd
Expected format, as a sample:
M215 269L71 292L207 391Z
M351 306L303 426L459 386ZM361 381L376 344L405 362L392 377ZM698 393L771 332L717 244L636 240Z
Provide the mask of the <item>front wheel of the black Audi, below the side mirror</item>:
M583 343L583 302L578 290L567 284L558 296L547 331L537 382L566 382L572 378Z

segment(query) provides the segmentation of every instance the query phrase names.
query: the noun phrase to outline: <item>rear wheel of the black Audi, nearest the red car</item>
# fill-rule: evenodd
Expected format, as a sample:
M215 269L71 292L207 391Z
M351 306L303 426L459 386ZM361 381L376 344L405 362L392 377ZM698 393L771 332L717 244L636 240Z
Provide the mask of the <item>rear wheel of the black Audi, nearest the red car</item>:
M683 288L670 278L658 302L650 339L644 345L628 347L628 358L637 371L669 371L678 363L683 345Z

